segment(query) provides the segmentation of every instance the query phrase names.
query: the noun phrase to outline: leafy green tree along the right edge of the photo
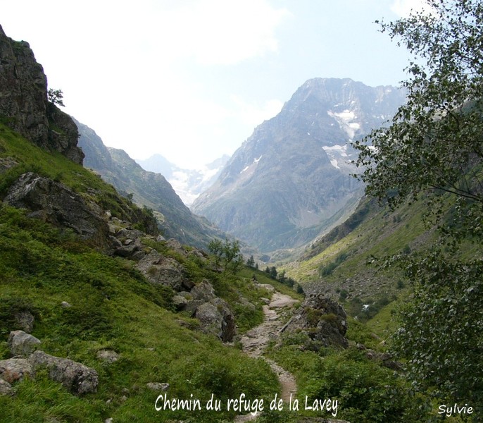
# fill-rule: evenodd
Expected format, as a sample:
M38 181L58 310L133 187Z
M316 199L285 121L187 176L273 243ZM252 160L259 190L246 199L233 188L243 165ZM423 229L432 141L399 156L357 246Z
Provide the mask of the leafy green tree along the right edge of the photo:
M381 24L420 62L410 63L403 83L408 102L391 125L355 143L357 164L368 194L393 209L425 197L427 223L439 229L428 251L383 261L401 266L415 288L396 348L416 386L477 405L483 404L483 264L468 251L483 235L483 4L427 4L430 13Z

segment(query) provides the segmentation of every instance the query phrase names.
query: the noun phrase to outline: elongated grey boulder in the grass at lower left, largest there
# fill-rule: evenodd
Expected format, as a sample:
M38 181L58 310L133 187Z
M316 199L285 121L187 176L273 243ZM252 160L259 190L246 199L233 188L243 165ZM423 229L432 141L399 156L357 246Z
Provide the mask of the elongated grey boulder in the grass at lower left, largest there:
M35 351L29 357L34 372L45 367L49 378L60 382L71 393L82 395L97 391L99 376L91 367L69 360L68 358L54 357L42 351Z

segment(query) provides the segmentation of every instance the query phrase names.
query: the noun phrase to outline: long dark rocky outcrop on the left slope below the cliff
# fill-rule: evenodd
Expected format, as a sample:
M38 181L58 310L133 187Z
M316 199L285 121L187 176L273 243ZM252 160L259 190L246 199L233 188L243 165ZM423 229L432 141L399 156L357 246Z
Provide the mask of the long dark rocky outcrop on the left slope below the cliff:
M84 199L62 183L36 173L24 173L13 183L4 202L31 211L30 216L61 228L70 228L83 239L107 246L108 225Z

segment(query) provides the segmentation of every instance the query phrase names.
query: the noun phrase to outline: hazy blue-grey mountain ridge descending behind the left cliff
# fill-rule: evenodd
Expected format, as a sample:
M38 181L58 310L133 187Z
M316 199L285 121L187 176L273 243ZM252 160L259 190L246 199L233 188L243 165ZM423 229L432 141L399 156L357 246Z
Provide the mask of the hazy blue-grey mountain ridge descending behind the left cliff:
M123 195L132 195L137 204L153 210L165 238L206 247L218 229L186 207L160 173L145 171L122 149L106 147L92 128L74 119L79 129L79 147L85 154L84 166L99 172Z

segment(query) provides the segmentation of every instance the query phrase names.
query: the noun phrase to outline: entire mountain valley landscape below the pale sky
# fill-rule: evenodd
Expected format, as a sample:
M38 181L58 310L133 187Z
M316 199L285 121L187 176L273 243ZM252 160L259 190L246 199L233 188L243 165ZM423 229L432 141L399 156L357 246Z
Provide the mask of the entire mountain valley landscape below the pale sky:
M0 27L0 421L481 421L461 90L313 78L231 158L143 168Z

